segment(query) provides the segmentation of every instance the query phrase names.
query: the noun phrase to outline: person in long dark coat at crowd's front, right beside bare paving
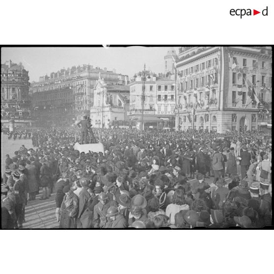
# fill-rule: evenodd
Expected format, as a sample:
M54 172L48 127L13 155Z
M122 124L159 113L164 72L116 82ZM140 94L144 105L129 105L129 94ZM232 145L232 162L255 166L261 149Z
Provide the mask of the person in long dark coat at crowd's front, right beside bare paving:
M70 185L63 187L65 193L60 208L60 228L77 228L76 218L79 212L79 198Z

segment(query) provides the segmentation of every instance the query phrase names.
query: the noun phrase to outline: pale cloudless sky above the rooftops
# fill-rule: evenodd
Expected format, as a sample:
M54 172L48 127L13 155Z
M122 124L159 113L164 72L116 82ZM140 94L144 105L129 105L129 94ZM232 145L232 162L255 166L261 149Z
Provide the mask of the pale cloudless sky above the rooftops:
M38 81L39 76L57 72L61 68L90 64L93 67L132 77L146 68L155 73L164 72L164 55L170 47L3 47L1 63L11 59L14 63L22 62L28 71L29 81ZM175 48L177 51L177 49ZM177 51L178 52L178 51Z

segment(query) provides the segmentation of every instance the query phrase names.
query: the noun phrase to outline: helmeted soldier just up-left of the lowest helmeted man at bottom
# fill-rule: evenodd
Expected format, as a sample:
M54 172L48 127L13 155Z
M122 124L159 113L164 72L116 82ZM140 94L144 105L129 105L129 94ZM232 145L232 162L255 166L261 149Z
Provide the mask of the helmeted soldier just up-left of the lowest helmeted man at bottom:
M98 204L94 206L93 212L93 227L94 228L104 228L107 224L107 212L110 206L117 207L115 201L108 201L108 195L104 192L98 195Z

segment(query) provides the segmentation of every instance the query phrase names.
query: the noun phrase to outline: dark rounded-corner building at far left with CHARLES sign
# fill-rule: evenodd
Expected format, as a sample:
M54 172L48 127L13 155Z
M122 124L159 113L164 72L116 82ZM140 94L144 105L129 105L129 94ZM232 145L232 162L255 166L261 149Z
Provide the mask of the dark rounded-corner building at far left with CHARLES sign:
M16 127L33 123L28 80L28 71L22 63L9 60L1 64L1 126L8 126L12 116Z

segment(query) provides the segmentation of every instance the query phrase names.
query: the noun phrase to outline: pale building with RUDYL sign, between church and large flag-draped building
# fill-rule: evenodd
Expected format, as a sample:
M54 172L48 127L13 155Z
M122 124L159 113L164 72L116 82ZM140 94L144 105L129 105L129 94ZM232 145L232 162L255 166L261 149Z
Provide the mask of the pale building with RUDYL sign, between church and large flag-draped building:
M145 71L135 74L130 86L130 110L128 115L136 121L140 129L142 120L142 90L145 88L143 122L144 128L174 127L175 81L157 77L155 73Z

